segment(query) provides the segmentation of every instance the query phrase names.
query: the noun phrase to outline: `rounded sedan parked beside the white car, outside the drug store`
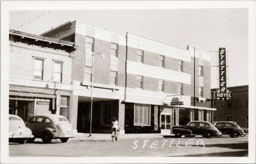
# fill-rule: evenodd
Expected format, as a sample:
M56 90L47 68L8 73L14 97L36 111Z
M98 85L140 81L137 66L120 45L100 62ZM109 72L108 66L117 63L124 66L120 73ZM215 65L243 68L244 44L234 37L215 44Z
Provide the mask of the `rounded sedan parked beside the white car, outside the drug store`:
M61 142L67 142L68 138L75 137L71 124L61 115L32 116L26 126L32 130L35 138L42 138L43 143L50 143L52 139L57 138L60 138Z

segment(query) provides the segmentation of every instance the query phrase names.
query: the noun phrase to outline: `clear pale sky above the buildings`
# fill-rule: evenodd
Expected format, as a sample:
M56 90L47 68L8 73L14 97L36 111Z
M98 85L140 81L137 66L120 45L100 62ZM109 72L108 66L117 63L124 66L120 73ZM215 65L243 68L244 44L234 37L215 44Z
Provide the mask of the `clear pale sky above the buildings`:
M40 35L79 20L131 32L186 49L228 51L228 86L248 85L248 9L122 9L9 11L9 28ZM216 52L211 52L211 88L218 88Z

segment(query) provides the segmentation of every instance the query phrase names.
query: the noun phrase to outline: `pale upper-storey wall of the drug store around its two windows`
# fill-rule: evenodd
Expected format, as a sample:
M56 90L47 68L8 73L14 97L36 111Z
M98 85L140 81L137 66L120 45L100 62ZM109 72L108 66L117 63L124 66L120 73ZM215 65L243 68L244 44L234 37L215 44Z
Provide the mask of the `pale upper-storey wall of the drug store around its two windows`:
M26 41L25 41L26 42ZM62 65L62 83L71 84L71 62L72 59L69 58L69 52L64 52L64 54L56 54L56 50L50 49L55 48L54 46L45 47L41 43L28 44L26 43L11 43L9 53L9 77L10 78L20 78L26 80L33 79L33 57L44 58L44 68L43 68L43 81L52 82L53 81L53 60L63 61ZM16 47L19 46L19 47ZM42 46L42 47L41 47ZM58 49L58 48L57 48Z

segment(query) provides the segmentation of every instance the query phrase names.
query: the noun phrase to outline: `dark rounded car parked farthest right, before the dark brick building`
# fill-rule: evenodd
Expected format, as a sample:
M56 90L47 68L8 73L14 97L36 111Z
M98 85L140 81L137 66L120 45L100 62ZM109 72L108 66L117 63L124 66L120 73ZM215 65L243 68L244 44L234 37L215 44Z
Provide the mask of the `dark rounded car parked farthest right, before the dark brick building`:
M222 135L230 135L230 137L244 137L246 132L236 123L229 121L221 121L214 123L214 126L221 131Z

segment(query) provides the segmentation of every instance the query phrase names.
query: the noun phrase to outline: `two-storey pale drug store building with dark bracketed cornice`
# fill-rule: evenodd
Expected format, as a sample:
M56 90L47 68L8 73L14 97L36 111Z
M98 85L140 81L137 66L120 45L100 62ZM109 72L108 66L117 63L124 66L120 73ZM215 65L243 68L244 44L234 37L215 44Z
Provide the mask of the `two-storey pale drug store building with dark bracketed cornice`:
M9 114L70 117L74 42L9 30ZM71 121L71 120L70 120Z

